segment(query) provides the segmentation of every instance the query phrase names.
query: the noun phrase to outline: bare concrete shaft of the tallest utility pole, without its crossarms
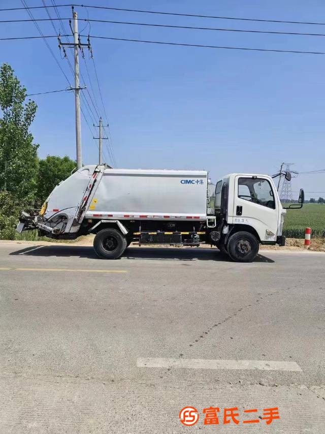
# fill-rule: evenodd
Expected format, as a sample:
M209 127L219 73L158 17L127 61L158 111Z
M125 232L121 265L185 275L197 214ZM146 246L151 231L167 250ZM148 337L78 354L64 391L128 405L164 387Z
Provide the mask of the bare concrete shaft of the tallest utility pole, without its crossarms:
M73 12L73 39L74 39L74 58L75 58L76 151L77 151L77 169L80 169L82 167L82 155L81 155L79 41L78 41L78 14L77 14L77 12Z

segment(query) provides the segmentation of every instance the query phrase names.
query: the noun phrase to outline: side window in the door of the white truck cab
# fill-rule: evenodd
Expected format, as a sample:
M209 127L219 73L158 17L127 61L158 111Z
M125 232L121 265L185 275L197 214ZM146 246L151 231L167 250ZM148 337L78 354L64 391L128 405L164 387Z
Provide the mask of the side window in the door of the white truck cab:
M238 197L275 209L274 194L267 179L239 178Z

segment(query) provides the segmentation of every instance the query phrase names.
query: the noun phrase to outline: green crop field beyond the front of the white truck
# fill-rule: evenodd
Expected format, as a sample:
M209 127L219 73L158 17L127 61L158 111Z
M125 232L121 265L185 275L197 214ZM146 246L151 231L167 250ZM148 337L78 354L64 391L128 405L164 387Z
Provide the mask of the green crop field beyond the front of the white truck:
M306 203L301 209L286 210L283 235L304 238L305 228L312 229L312 236L325 237L325 204Z

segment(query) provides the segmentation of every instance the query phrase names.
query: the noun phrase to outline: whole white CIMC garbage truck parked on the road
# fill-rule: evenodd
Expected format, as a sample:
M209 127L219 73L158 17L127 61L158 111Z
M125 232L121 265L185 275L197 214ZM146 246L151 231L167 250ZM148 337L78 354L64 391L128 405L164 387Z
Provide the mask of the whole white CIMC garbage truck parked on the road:
M303 202L301 190L298 203L289 207ZM268 175L224 176L211 206L207 171L91 165L60 182L39 212L23 211L17 231L38 229L55 239L95 234L94 250L104 259L119 258L131 242L205 243L234 261L251 262L259 244L285 244L285 212Z

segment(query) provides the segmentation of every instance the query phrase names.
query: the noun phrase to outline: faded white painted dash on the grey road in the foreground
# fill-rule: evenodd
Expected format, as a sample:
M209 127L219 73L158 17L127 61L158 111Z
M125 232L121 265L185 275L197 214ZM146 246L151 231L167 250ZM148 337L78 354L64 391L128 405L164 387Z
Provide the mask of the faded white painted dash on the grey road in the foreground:
M302 371L296 362L274 360L207 360L207 359L165 359L138 358L138 367L145 368L188 368L188 369L261 369Z

